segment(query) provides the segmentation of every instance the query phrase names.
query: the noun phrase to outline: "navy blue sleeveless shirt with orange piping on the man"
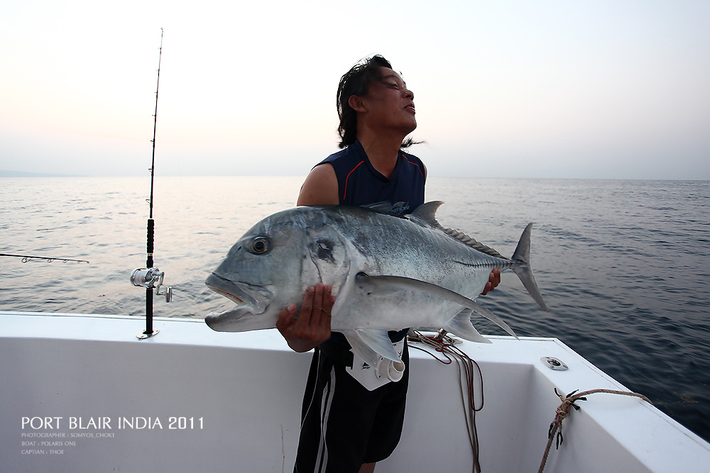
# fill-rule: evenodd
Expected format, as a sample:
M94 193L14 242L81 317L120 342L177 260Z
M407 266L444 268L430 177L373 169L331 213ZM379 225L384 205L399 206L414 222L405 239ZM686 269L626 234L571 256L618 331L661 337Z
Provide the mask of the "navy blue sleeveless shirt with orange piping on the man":
M384 177L375 169L358 140L342 151L336 152L318 165L330 163L338 178L340 205L366 206L391 202L391 211L412 213L424 204L424 164L400 150L397 165L391 177ZM389 332L393 342L402 340L407 330ZM330 341L349 345L342 333L333 332Z

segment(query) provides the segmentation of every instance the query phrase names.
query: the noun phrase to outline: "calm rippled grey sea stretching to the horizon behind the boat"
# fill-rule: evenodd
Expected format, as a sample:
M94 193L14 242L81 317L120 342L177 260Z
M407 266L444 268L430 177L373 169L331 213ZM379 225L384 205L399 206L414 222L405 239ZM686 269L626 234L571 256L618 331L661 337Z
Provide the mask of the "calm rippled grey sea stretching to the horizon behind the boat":
M231 303L204 279L246 230L293 206L302 177L155 181L155 265L202 318ZM528 222L551 312L512 273L479 299L518 335L554 336L710 440L710 182L432 178L439 222L512 255ZM0 310L144 315L150 179L0 178ZM481 333L503 335L481 318Z

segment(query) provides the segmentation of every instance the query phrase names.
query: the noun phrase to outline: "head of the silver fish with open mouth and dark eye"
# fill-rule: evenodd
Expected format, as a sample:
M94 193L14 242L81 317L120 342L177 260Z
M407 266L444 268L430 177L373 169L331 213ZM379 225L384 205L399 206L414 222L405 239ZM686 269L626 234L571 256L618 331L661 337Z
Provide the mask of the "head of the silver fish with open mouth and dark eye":
M275 328L280 311L317 282L346 279L346 251L323 208L297 207L253 226L231 247L205 284L236 306L211 313L205 323L221 332Z

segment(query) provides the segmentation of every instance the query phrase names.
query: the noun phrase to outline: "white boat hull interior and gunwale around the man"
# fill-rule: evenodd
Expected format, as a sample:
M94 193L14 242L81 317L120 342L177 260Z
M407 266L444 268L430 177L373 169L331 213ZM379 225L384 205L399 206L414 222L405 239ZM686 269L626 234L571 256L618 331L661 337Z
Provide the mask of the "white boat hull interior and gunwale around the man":
M0 471L292 471L310 355L275 330L154 326L158 335L138 340L141 318L0 312ZM627 390L555 338L490 338L457 345L483 374L483 472L537 471L555 388ZM470 472L456 365L410 356L403 436L376 471ZM594 394L578 404L545 472L708 471L710 445L645 401Z

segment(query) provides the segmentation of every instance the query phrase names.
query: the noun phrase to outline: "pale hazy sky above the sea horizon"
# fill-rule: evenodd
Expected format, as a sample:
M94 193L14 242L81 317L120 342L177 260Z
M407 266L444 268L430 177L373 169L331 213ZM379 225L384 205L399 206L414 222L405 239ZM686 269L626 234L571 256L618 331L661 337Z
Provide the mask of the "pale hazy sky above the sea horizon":
M305 175L384 55L430 176L710 179L710 2L6 1L0 169Z

